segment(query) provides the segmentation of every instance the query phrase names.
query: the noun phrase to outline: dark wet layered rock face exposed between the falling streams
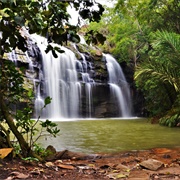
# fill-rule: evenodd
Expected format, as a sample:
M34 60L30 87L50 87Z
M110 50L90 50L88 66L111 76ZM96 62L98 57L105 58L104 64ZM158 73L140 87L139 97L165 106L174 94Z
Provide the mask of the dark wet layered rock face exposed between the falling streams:
M71 47L70 47L71 46ZM18 67L24 67L24 74L26 76L26 87L32 88L34 86L35 93L39 84L44 84L44 75L43 75L43 63L42 63L42 54L37 46L37 44L28 38L28 51L26 53L16 49L10 55L7 55L7 59L10 59L16 63ZM89 78L92 83L96 83L92 87L92 108L87 108L87 98L85 96L85 89L82 85L82 98L80 101L80 117L87 117L87 114L91 111L92 117L104 118L104 117L117 117L118 116L118 107L117 104L113 102L110 98L110 88L108 85L108 72L106 66L106 59L103 56L102 51L96 48L91 48L87 45L71 45L68 47L75 53L77 60L83 65L85 58L87 61L86 71L89 74ZM127 67L125 67L127 71ZM76 70L78 72L79 82L82 84L82 69L79 67L78 63L76 65ZM127 71L129 72L129 71ZM132 76L130 73L127 73L126 77ZM128 77L129 78L129 77ZM127 78L127 79L128 79ZM132 77L128 80L133 81ZM128 81L129 84L133 82ZM43 97L46 97L47 94L43 89L43 85L40 88L41 94ZM133 91L133 89L132 89ZM133 91L134 92L134 91ZM132 93L133 94L133 93ZM24 105L23 105L24 106ZM136 106L137 108L137 106ZM141 108L141 107L140 107ZM136 109L138 111L138 109Z

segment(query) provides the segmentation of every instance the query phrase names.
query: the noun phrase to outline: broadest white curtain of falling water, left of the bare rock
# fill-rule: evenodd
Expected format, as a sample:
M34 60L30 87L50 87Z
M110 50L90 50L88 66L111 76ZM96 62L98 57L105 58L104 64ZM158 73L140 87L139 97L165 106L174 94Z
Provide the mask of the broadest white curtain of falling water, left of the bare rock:
M52 98L44 116L48 118L78 117L81 85L77 78L77 59L74 53L69 49L60 47L64 53L58 53L58 57L54 58L51 52L45 53L47 45L45 38L34 35L34 39L38 42L42 53L43 88L46 96Z

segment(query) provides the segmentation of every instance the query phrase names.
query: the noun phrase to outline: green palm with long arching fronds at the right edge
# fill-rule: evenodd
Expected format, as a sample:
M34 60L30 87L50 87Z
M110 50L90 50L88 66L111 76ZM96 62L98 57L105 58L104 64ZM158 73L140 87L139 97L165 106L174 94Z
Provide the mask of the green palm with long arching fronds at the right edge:
M134 78L149 101L149 111L153 115L174 117L180 120L180 35L166 31L151 34L152 50L148 61L137 66ZM163 118L166 119L166 118ZM166 120L167 120L166 119ZM168 124L169 125L169 124Z

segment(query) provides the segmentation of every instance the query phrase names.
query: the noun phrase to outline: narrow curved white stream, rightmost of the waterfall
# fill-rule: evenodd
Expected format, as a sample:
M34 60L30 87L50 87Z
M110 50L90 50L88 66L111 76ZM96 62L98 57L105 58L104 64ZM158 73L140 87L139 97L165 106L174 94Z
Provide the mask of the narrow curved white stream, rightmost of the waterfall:
M117 61L109 54L106 54L105 57L111 94L117 100L119 116L130 117L132 115L129 85Z

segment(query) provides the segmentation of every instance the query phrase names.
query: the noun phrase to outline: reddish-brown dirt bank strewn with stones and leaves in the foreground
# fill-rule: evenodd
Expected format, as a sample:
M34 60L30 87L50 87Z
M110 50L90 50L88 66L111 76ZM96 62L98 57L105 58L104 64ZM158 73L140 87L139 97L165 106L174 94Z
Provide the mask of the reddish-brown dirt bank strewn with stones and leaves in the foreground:
M0 160L0 179L180 179L180 147L93 155L64 151L59 157L45 163L5 158ZM148 159L159 160L162 166L157 170L141 166Z

